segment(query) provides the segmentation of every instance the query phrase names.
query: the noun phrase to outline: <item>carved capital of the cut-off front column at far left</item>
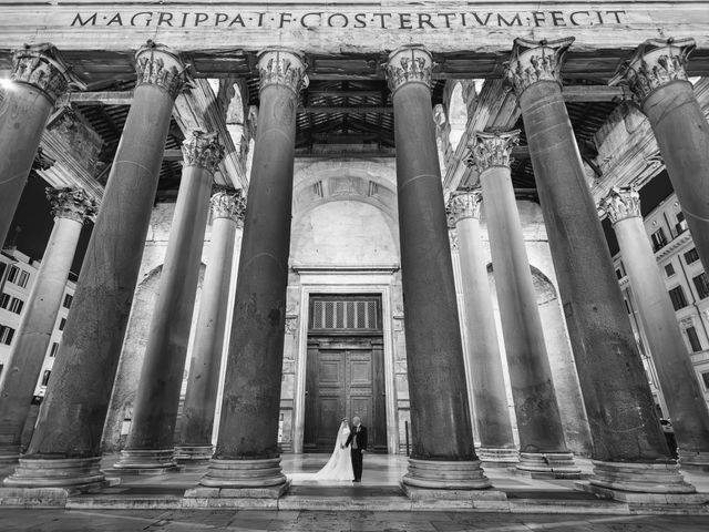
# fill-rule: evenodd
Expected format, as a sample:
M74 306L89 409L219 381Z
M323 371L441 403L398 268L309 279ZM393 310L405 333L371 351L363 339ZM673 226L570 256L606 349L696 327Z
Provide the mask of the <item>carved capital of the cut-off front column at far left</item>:
M51 44L25 45L16 50L12 53L11 80L39 89L52 105L70 86L85 89Z

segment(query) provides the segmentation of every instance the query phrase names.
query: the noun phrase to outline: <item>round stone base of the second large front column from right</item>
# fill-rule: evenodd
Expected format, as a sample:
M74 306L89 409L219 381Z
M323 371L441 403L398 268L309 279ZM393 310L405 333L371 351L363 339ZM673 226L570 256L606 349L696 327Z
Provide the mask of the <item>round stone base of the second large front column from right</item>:
M594 460L594 474L588 479L590 489L598 494L606 492L636 493L695 493L697 489L687 482L675 461L667 462L602 462ZM618 495L620 497L620 495ZM625 497L625 495L623 495ZM617 500L627 500L613 497Z

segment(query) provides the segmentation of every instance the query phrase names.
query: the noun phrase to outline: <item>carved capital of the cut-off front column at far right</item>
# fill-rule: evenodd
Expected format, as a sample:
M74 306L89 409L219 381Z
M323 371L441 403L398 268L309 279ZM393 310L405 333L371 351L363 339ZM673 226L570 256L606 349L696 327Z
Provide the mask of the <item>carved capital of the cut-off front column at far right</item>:
M686 66L696 47L693 39L649 39L620 65L608 84L627 84L636 102L643 105L656 89L676 80L689 81Z

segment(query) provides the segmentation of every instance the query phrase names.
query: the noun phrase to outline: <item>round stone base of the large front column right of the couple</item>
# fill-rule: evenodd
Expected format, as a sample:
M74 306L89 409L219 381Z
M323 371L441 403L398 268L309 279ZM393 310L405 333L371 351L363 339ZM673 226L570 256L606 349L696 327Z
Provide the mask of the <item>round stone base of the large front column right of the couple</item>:
M480 460L440 461L409 459L404 485L432 490L485 490L492 485Z

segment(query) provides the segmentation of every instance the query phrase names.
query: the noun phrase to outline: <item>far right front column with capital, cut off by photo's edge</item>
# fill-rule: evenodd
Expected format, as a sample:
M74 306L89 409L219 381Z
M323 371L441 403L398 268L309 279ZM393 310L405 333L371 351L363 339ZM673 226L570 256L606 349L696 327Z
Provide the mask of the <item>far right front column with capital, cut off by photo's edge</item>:
M650 39L610 83L630 86L647 115L689 232L709 272L709 122L687 79L693 39Z

